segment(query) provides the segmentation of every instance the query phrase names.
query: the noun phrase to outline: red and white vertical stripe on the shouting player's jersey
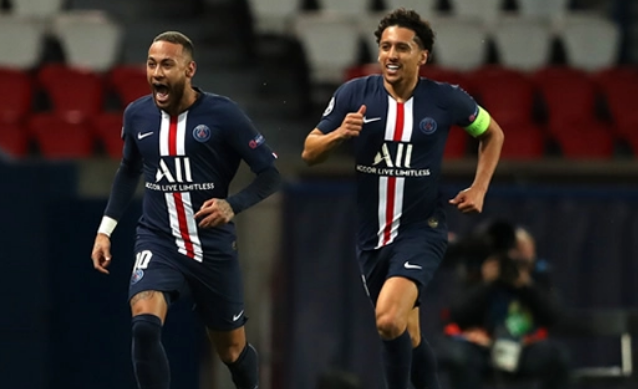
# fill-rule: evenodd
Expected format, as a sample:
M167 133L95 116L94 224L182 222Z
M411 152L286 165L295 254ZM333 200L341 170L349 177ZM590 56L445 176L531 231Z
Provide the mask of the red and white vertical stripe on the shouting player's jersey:
M188 111L179 116L170 116L162 112L162 124L160 127L160 157L184 157L186 156L186 117ZM175 165L181 169L181 162ZM181 172L181 170L180 170ZM181 174L180 174L181 176ZM191 201L190 192L165 193L166 207L171 232L175 238L178 251L196 261L202 262L202 243L197 234L195 212Z

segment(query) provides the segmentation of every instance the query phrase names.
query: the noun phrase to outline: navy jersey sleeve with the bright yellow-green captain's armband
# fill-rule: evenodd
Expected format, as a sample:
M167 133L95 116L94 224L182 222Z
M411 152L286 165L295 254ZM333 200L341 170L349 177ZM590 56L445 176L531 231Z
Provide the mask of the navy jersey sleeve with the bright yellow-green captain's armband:
M453 122L463 127L468 134L477 137L487 131L490 114L463 89L450 86L450 104Z

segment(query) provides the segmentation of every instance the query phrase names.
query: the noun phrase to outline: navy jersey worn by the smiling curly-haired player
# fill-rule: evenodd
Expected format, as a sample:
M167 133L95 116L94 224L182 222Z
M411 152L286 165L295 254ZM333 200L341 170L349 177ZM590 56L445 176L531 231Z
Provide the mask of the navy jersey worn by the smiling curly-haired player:
M450 126L470 126L479 106L457 86L423 78L412 97L398 103L374 75L339 87L317 128L336 130L361 105L365 119L354 140L358 245L368 250L428 225L442 206L438 181Z

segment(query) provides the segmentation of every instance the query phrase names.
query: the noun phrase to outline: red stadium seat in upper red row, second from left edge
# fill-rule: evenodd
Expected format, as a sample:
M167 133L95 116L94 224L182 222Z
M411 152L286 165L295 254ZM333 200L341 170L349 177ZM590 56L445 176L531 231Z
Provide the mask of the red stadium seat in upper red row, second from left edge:
M40 69L38 80L51 100L53 112L69 122L82 122L102 110L102 80L91 71L52 64Z

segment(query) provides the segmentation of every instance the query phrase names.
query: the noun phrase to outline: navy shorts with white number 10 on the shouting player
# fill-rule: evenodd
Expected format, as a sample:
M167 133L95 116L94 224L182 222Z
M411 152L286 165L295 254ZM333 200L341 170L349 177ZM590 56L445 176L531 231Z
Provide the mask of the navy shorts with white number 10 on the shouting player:
M174 245L138 237L129 300L146 290L164 292L167 301L190 293L204 324L215 331L243 326L244 292L236 250L204 256L202 262L177 252Z

